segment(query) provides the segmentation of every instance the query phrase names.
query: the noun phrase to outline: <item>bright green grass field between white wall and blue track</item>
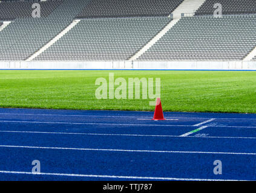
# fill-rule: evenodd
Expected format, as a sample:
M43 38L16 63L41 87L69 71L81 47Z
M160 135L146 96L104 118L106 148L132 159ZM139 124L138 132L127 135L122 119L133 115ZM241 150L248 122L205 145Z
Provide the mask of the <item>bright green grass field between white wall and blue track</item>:
M256 113L256 72L249 71L0 71L0 107L149 110L152 100L97 100L95 81L161 78L164 111Z

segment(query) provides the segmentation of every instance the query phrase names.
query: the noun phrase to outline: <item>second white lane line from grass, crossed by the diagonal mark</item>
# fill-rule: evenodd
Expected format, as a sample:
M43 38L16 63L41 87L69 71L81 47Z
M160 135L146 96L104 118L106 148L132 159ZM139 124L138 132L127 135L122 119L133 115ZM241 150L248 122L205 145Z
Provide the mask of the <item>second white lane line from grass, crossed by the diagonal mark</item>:
M126 125L126 126L161 126L161 127L196 127L195 125L157 125L157 124L116 124L116 123L94 123L94 122L48 122L48 121L0 121L0 122L21 122L21 123L39 123L39 124L74 124L74 125ZM218 126L210 125L208 127L227 127L227 128L256 128L255 126Z

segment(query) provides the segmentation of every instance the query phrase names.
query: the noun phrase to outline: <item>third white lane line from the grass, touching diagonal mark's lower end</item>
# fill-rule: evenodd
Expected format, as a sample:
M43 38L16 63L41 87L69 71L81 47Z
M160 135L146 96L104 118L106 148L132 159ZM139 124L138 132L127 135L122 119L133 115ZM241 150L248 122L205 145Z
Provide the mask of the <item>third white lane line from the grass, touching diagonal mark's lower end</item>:
M35 134L73 134L73 135L99 135L99 136L134 136L154 138L220 138L220 139L256 139L254 137L226 137L226 136L176 136L161 134L113 134L113 133L67 133L67 132L44 132L44 131L4 131L0 133L35 133Z

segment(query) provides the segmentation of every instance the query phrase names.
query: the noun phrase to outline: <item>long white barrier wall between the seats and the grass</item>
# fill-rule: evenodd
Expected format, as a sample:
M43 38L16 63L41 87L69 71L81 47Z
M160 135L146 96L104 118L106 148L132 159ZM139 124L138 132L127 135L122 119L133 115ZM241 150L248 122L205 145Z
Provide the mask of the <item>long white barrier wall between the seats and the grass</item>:
M0 62L0 69L205 69L256 70L256 62Z

